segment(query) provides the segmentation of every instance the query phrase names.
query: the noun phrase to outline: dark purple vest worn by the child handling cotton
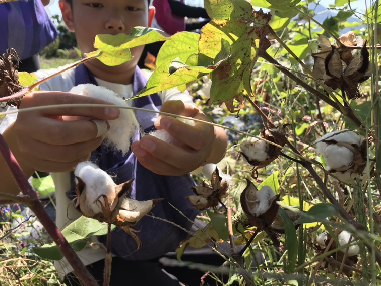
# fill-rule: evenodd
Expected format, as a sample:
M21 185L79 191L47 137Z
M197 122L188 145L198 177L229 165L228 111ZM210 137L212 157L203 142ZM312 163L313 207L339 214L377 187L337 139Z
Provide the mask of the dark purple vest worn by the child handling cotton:
M97 84L93 75L84 64L76 67L75 79L76 85L85 83ZM137 67L133 81L134 94L137 94L146 83L147 79L142 75L139 67ZM151 106L151 109L155 109L156 106L160 105L161 100L158 94L135 99L136 107L144 106L147 108ZM150 114L153 114L154 117L157 116L154 113ZM150 116L147 116L147 112L137 113L137 117L140 124L145 126L146 131L154 128L152 118L149 119ZM149 122L151 122L151 125L149 125ZM137 132L133 141L139 140L139 137L140 134ZM152 215L169 220L187 229L190 228L190 222L170 206L170 204L172 204L190 220L193 221L195 219L197 211L193 205L185 199L186 196L193 194L190 187L195 186L195 182L190 175L157 175L144 168L131 150L128 154L122 156L120 152L114 153L109 151L103 145L93 151L90 160L114 176L113 178L116 184L135 178L132 190L129 194L132 198L137 200L165 198L165 200L159 202L153 208ZM140 230L137 235L142 242L141 249L135 251L137 248L135 240L126 232L117 228L111 233L111 248L113 254L128 260L153 259L169 251L174 251L179 243L187 236L184 231L172 224L147 216L143 217L134 228ZM99 237L99 239L105 243L105 237Z

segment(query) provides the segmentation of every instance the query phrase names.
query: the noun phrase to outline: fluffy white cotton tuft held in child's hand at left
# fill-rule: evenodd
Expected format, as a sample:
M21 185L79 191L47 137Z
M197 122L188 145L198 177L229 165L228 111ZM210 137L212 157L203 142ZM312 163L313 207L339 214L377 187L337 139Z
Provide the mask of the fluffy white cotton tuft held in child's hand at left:
M119 106L128 106L116 93L104 87L93 84L78 85L71 89L70 93L84 95L92 98L102 99ZM121 108L119 118L109 120L110 130L105 138L105 144L120 150L125 155L131 144L131 138L139 128L138 120L131 109Z

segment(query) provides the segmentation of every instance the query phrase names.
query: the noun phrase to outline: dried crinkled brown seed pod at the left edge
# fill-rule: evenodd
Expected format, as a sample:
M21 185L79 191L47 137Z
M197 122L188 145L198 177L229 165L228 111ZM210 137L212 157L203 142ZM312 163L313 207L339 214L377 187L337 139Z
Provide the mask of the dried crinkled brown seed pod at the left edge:
M13 61L16 63L14 64ZM6 53L0 55L0 95L2 97L10 96L21 90L19 82L19 58L14 49L10 48ZM14 99L12 102L7 102L9 105L18 106L20 99Z

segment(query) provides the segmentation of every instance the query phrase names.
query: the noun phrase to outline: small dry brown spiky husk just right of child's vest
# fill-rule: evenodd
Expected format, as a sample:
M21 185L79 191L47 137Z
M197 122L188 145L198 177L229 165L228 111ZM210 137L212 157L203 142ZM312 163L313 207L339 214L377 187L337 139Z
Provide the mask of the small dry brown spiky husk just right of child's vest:
M195 194L188 196L187 199L198 210L216 207L221 199L227 196L228 188L229 183L219 175L219 170L216 168L212 174L211 184L204 181L202 186L192 187Z

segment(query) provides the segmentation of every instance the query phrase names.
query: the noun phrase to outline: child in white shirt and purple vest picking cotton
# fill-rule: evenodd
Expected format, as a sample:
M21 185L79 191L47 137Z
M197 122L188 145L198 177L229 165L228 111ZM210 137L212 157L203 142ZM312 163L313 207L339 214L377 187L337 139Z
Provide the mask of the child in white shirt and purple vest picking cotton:
M149 7L148 0L61 0L59 4L63 20L76 33L82 54L94 50L95 35L129 34L131 27L150 26L155 13L154 8ZM42 84L40 88L45 92L25 96L20 109L51 104L105 103L68 93L73 86L83 83L102 85L121 97L129 98L143 88L147 81L136 66L142 50L143 47L133 48L131 52L134 58L119 66L110 67L92 60L70 69ZM37 76L44 78L55 71L41 71ZM205 114L193 106L190 96L178 90L139 98L131 104L209 121ZM156 126L176 134L184 147L169 145L153 136L144 136L141 140L137 138L131 145L131 151L122 156L103 147L101 144L105 134L98 134L94 122L81 118L113 120L118 115L119 110L111 105L110 108L57 108L20 113L3 136L27 177L35 170L53 172L57 200L56 224L59 228L69 223L68 218L73 220L78 217L72 207L67 213L70 200L66 193L74 188L71 171L78 163L91 158L100 168L115 176L117 184L135 178L131 190L133 198L165 198L152 210L153 215L189 229L187 219L169 203L191 220L195 218L195 210L185 199L190 194L189 188L194 185L188 173L203 164L216 163L223 157L227 145L225 132L208 124L196 122L195 126L190 126L170 116L159 116ZM137 117L145 130L153 128L156 120L154 113L147 115L137 112ZM0 161L0 172L9 174L3 161ZM11 176L2 177L1 192L17 194L19 190ZM111 284L119 285L122 281L128 281L133 285L178 285L176 278L158 266L157 259L173 251L186 237L186 233L152 217L144 217L136 229L140 230L138 236L142 242L139 250L136 250L134 239L124 231L118 229L112 232L112 253L117 257L113 259ZM103 263L103 250L88 247L79 255L89 265L90 271L101 279L99 265ZM131 260L134 261L129 262ZM58 270L65 274L72 271L64 262L59 262L56 263ZM66 281L68 284L73 282L69 275Z

